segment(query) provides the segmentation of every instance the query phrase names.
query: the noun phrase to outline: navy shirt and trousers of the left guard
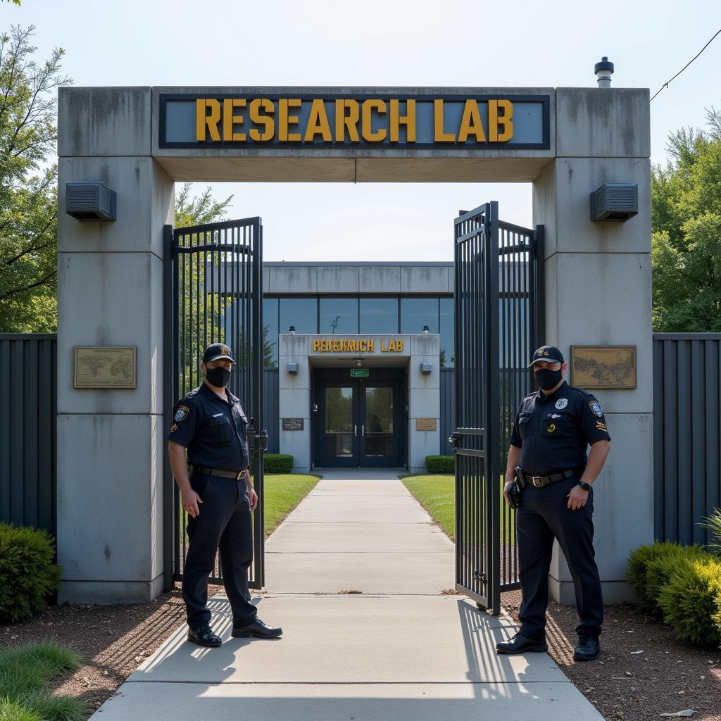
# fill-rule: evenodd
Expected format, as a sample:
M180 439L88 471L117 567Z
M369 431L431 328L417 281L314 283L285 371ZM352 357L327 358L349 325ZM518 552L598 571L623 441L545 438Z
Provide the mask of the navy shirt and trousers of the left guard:
M248 568L253 559L252 521L244 471L249 465L248 420L237 399L226 389L228 401L204 383L176 406L169 441L187 448L193 473L190 485L203 503L200 514L188 516L190 546L183 567L182 596L191 629L207 626L208 576L220 549L223 583L235 625L251 624L257 616L249 601ZM199 472L232 471L239 479Z

